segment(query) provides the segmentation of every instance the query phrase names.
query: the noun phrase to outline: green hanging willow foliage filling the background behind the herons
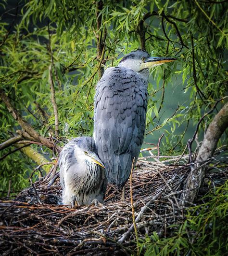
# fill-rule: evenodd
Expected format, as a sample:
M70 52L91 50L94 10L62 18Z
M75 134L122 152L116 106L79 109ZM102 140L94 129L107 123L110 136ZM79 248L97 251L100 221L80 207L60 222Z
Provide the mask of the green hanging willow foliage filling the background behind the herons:
M91 0L30 0L19 4L16 22L5 22L5 13L2 14L1 88L27 123L40 135L50 134L62 145L63 138L92 134L94 87L99 80L100 67L117 65L118 57L142 47L144 42L153 56L178 58L173 65L152 71L145 140L157 143L162 130L165 132L161 145L164 154L183 151L189 127L226 93L227 4L199 3L198 0L107 0L103 1L99 12L97 4ZM7 8L7 1L3 5ZM11 12L15 14L16 10ZM100 28L99 17L102 17ZM105 43L100 59L97 58L98 39ZM59 138L54 138L53 132L51 62ZM172 97L177 97L171 110L167 84L175 92ZM181 101L176 95L186 100ZM21 127L5 104L0 103L0 106L0 142L4 142ZM171 114L165 115L163 109ZM212 116L208 115L202 122L201 131ZM220 145L224 142L225 139L221 140ZM53 157L50 149L36 148L47 159ZM8 148L2 150L1 156L8 152ZM21 173L35 167L30 161L28 168L28 163L19 152L1 159L3 191L8 188L9 179L15 189L26 185Z

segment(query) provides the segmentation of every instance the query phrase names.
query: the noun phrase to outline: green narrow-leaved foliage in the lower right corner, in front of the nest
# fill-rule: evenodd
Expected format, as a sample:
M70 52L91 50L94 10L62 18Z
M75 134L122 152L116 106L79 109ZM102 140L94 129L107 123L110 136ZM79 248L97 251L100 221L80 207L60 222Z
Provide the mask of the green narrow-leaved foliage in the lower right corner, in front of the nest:
M203 204L188 210L186 220L169 227L173 234L159 238L156 232L139 242L145 256L225 255L227 247L228 183L211 191ZM205 202L206 201L206 202Z

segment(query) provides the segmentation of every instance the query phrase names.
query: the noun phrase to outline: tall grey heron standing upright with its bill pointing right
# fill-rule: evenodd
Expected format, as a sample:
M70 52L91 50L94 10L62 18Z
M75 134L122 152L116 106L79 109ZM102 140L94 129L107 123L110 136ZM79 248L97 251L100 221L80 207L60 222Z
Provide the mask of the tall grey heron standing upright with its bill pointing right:
M149 68L174 60L132 51L117 67L106 69L97 84L93 137L108 182L119 188L127 182L143 142Z

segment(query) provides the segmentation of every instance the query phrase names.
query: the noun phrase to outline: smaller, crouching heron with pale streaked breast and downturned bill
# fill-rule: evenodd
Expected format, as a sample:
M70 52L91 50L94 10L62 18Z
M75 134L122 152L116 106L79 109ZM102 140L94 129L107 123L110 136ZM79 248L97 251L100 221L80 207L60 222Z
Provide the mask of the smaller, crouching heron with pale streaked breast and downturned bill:
M78 137L68 142L58 163L63 204L74 206L76 202L96 206L103 203L107 179L91 137Z

